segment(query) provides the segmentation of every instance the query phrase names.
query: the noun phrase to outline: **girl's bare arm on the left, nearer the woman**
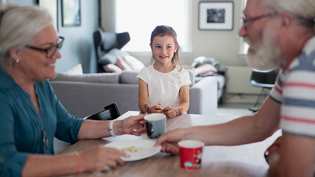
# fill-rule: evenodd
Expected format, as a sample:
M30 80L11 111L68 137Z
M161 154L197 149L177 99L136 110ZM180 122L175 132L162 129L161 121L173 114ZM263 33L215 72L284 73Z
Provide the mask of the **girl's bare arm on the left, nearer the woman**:
M138 106L143 113L161 113L162 110L158 106L150 106L148 104L149 91L148 84L139 78Z

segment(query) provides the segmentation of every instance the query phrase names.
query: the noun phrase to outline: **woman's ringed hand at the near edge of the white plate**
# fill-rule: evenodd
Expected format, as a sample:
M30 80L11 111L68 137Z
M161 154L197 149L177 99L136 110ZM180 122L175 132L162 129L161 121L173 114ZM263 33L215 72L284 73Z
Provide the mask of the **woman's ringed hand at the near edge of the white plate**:
M129 157L129 154L115 148L98 146L80 153L82 172L104 171L104 168L115 168L124 164L120 156Z

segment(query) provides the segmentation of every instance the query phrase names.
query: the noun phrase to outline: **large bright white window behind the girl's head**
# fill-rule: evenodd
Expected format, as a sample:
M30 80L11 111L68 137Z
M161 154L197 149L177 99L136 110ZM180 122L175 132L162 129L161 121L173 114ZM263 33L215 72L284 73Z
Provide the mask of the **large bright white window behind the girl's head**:
M189 51L189 0L115 0L115 31L128 31L130 41L122 50L151 52L151 32L158 25L171 26L183 52Z

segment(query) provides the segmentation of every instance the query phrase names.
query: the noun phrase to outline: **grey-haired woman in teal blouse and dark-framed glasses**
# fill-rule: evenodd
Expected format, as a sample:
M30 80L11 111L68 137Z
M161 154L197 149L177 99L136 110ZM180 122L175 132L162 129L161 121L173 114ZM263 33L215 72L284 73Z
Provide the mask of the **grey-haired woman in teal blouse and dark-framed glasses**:
M117 121L75 118L47 79L55 77L63 37L47 12L36 7L0 8L0 176L56 176L103 171L126 153L96 147L80 154L53 155L53 139L75 143L145 132L143 116ZM111 127L111 130L109 129Z

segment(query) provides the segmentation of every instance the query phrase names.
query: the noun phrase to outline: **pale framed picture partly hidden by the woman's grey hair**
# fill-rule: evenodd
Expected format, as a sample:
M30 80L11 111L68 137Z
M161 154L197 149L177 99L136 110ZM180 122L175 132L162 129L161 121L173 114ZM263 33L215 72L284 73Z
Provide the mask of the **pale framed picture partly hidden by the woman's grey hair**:
M36 0L40 8L44 8L52 16L54 26L58 31L58 0Z

